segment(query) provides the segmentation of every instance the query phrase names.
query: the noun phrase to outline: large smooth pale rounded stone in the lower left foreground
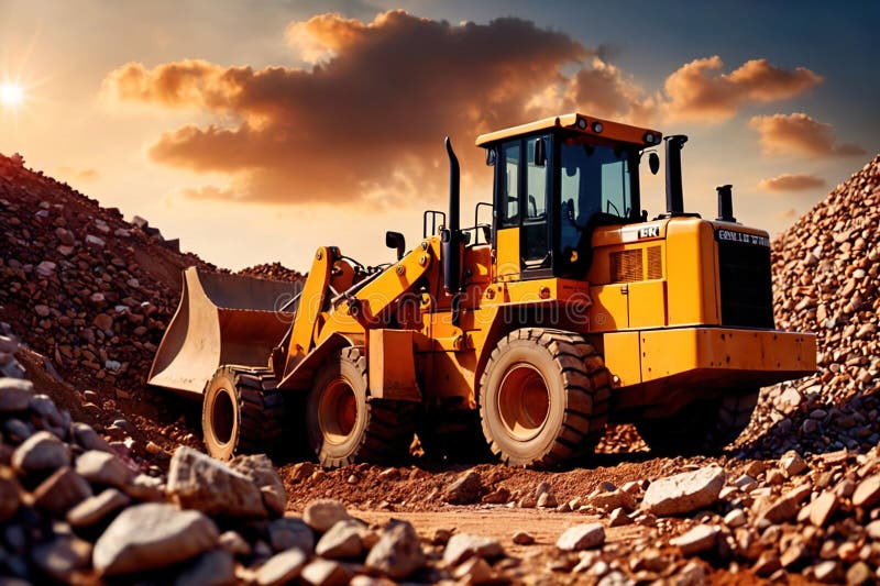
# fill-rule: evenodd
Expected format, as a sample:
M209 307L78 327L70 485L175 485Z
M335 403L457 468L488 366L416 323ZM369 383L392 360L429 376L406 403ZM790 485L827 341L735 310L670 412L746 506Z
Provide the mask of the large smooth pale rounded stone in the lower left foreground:
M158 502L135 505L98 539L92 565L107 576L165 567L215 548L217 539L217 526L200 511Z

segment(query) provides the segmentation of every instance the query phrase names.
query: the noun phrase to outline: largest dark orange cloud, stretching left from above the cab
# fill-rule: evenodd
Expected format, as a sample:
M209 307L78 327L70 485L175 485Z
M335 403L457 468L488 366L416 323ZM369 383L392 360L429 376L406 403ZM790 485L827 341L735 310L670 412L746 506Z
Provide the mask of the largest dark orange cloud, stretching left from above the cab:
M105 92L190 108L207 126L166 132L158 163L232 180L190 196L256 202L350 202L385 194L425 199L446 190L442 139L464 173L483 170L476 134L556 113L534 97L593 52L518 19L451 25L403 11L372 22L322 14L287 30L310 70L221 67L201 60L129 63ZM477 167L479 165L479 167Z

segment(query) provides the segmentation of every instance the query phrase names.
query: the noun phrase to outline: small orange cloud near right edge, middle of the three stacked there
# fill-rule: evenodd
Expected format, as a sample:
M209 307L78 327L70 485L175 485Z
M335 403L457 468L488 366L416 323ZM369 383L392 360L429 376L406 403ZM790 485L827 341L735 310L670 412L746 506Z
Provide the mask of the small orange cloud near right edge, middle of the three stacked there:
M865 154L857 144L838 143L831 124L817 122L801 112L756 115L749 120L749 126L758 131L761 150L767 155L826 157Z

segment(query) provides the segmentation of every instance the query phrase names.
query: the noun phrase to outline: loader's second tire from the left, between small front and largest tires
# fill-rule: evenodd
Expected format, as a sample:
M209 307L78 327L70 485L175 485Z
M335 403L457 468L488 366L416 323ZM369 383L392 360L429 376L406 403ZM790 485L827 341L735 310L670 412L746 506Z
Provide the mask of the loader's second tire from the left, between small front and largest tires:
M309 444L327 468L355 462L402 464L413 442L417 407L369 400L366 360L356 347L343 349L318 369L309 391Z

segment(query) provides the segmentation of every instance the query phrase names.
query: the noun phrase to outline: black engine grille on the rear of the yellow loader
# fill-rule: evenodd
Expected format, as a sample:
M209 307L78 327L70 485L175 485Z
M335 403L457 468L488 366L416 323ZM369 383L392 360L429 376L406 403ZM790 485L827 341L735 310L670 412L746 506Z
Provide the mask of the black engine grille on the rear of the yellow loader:
M773 329L770 248L718 241L722 324Z

